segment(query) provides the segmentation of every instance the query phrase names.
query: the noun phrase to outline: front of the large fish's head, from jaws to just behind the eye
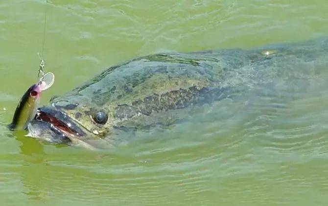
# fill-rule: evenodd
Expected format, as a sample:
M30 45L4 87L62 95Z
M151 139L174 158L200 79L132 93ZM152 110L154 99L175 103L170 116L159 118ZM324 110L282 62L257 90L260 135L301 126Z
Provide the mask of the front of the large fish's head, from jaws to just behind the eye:
M38 108L37 115L28 125L28 136L91 149L94 147L91 142L106 139L101 143L105 147L111 145L105 138L113 128L109 113L109 108L81 99L53 101Z

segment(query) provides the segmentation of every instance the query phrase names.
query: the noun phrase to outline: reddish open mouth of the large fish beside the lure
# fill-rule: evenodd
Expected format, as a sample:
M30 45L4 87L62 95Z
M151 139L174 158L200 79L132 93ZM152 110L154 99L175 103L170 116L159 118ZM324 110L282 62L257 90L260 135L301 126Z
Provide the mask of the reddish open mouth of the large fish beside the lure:
M47 129L50 129L63 139L82 137L86 134L65 112L52 107L44 106L38 108L34 120L32 120L31 123L34 126L39 125L40 128L42 125L47 124Z

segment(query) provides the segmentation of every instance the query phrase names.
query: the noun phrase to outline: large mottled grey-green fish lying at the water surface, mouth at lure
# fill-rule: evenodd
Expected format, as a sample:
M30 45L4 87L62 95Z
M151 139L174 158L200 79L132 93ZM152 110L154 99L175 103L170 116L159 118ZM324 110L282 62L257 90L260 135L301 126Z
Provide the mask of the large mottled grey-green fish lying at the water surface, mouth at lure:
M327 54L327 39L248 50L150 54L52 98L29 130L55 143L107 147L114 144L118 130L169 125L190 109L275 79L311 78L316 65L327 65Z

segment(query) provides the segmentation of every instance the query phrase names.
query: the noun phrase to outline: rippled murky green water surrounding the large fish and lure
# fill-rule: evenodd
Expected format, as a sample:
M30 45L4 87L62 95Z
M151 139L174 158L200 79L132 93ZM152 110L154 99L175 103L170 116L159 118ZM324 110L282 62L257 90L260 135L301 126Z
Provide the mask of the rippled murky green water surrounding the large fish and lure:
M43 56L56 80L42 103L151 52L328 36L327 11L326 0L0 1L1 205L327 205L327 72L292 101L223 100L110 151L5 127L36 81L45 13Z

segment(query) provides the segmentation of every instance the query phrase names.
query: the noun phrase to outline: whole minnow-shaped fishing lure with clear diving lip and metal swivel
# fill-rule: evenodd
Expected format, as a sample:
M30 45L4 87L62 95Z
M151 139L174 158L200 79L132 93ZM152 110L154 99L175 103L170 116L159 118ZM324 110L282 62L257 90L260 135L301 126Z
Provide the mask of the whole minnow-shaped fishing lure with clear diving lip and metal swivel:
M45 62L41 59L40 69L38 72L39 81L33 84L27 89L23 94L20 102L18 103L15 114L13 116L13 121L9 125L10 129L23 130L27 128L29 121L31 121L37 112L37 108L40 103L42 91L51 87L54 82L55 76L53 73L44 73L43 69L45 67Z

